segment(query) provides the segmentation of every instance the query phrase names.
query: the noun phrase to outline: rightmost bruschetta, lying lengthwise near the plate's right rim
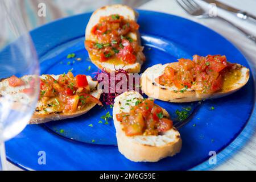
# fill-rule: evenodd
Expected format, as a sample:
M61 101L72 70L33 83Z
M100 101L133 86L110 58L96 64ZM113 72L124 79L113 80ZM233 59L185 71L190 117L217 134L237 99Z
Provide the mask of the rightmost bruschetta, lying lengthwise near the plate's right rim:
M192 102L224 97L241 89L249 80L249 69L229 63L226 56L195 55L156 64L142 74L142 91L148 97L168 102Z

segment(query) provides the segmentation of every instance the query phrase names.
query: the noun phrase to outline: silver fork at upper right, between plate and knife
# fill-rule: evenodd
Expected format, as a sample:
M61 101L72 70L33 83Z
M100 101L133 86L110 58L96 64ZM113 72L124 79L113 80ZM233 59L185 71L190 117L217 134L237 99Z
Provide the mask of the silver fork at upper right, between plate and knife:
M204 9L201 8L195 1L193 0L176 0L177 3L190 15L195 16L196 18L209 18L210 16L208 15L207 12L205 12ZM243 30L240 27L237 27L235 24L232 22L229 22L228 20L221 18L218 16L218 18L225 20L226 22L232 24L232 26L236 27L238 30L240 30L243 34L246 35L247 38L252 40L254 43L256 43L256 38L255 36L249 34L247 31Z

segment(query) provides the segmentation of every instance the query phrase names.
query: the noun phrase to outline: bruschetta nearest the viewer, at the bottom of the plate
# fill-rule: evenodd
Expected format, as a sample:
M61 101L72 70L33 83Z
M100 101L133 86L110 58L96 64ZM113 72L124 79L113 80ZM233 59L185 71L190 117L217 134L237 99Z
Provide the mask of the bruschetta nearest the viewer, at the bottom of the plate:
M138 92L115 98L113 120L118 150L133 162L157 162L181 150L181 137L170 115Z

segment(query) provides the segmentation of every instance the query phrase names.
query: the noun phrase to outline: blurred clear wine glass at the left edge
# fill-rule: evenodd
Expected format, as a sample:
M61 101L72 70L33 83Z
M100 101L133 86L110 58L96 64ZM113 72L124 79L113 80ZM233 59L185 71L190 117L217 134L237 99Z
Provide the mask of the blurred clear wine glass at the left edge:
M39 64L17 1L0 1L0 22L0 164L5 170L4 142L26 127L38 100ZM22 86L10 86L5 78L13 75L32 77Z

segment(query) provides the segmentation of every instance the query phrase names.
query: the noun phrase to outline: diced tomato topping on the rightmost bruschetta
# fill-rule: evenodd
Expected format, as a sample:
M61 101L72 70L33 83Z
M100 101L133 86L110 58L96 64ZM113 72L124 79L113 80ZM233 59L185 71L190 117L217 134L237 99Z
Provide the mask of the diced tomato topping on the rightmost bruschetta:
M170 64L155 81L160 85L174 85L177 89L216 92L222 88L224 75L232 69L232 65L227 62L226 56L194 55L193 60L179 59L177 64Z

